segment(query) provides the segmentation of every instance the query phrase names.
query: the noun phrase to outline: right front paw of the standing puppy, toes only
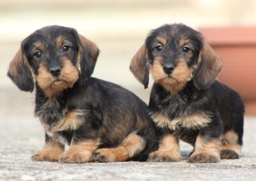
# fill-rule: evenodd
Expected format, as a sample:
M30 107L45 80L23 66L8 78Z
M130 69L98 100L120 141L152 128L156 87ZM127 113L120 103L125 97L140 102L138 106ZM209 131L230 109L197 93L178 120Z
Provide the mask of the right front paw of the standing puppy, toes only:
M220 162L219 154L193 153L188 160L189 163L218 163Z

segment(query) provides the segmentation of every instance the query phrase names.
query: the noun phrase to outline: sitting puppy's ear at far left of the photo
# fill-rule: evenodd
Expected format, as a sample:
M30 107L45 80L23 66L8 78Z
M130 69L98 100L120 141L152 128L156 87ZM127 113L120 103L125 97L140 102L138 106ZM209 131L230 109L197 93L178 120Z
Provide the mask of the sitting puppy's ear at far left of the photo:
M34 80L31 70L27 63L27 58L22 54L21 48L10 62L7 75L21 91L32 92L34 89Z

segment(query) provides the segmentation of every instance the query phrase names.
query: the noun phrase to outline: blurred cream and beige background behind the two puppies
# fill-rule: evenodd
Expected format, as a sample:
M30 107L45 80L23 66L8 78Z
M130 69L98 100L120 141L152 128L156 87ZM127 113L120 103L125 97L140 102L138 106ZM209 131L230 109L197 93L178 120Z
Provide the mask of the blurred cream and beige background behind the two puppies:
M6 71L20 41L36 29L54 24L74 27L99 46L101 52L93 76L118 83L148 103L150 89L144 91L132 76L129 62L151 29L174 22L195 29L254 26L256 1L1 0L0 113L33 113L33 96L20 92L6 77Z

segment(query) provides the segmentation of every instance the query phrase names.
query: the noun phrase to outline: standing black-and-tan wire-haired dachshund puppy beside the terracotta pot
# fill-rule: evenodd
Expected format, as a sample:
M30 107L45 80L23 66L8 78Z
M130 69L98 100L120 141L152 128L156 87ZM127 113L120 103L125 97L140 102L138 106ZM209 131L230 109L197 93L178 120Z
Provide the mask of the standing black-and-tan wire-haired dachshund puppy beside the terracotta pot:
M179 139L193 145L190 163L237 159L243 143L243 101L216 77L221 60L202 34L182 24L152 31L134 55L130 69L154 85L149 111L159 149L148 161L180 161Z

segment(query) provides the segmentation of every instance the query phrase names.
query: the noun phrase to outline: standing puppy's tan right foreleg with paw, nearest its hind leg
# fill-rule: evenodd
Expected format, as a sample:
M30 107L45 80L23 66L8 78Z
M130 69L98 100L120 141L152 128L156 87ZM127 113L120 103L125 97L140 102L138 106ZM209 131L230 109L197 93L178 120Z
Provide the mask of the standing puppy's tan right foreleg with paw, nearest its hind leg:
M189 163L218 163L220 162L220 141L206 141L200 136L196 138L195 151L191 154Z

